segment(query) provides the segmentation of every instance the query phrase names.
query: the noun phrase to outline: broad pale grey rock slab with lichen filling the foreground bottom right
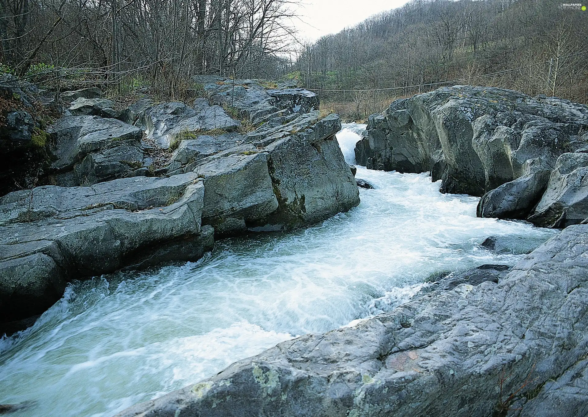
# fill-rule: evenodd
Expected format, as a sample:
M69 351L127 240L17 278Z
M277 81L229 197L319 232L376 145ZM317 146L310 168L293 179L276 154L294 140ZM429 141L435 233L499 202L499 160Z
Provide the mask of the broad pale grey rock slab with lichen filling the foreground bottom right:
M511 413L583 415L587 233L566 228L498 284L433 291L282 342L118 416L489 417L520 405Z

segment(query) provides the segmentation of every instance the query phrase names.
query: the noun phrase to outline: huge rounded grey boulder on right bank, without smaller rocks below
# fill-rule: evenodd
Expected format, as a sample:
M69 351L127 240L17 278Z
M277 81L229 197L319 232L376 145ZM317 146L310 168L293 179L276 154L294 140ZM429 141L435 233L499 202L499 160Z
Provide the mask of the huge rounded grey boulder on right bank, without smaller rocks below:
M431 171L442 191L482 196L523 175L529 159L554 166L585 146L588 107L512 90L454 86L396 100L369 119L356 160L370 169Z

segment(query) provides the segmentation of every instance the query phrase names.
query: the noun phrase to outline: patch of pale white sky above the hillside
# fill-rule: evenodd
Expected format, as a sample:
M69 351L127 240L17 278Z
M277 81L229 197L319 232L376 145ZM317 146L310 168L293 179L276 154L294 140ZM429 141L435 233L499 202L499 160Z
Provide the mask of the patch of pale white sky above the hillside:
M395 9L407 0L300 0L293 6L300 15L295 19L301 39L316 41L320 36L337 33L369 16Z

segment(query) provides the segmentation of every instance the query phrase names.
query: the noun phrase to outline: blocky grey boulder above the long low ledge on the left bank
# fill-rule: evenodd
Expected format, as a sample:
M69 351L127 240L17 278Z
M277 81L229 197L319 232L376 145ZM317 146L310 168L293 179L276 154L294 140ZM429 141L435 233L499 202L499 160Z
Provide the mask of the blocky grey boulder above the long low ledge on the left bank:
M60 186L92 185L143 166L143 132L120 120L65 116L48 131L57 157L51 167Z

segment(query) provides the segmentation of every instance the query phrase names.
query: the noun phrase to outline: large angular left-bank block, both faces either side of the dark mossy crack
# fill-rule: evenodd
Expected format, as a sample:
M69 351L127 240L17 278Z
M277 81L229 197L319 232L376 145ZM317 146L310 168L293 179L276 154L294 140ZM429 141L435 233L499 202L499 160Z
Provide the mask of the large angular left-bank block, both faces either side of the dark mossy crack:
M208 145L180 144L178 163L185 147L206 152L225 147L206 157L192 152L186 160L190 162L176 170L203 177L202 223L214 226L218 234L288 230L359 204L358 187L335 139L339 116L320 119L314 111L270 126L245 136L219 136Z

